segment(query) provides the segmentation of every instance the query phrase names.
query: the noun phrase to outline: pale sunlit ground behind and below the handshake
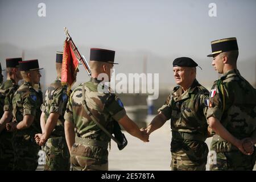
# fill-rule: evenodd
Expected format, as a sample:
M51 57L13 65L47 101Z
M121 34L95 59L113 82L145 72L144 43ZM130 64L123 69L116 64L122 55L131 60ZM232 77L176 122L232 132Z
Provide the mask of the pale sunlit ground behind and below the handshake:
M150 121L151 118L148 118L147 122ZM159 130L154 131L148 143L143 143L126 132L123 133L128 144L122 151L119 151L117 145L112 142L112 149L109 152L109 170L170 170L170 122L167 121ZM208 138L206 141L208 147L210 147L211 140L212 138ZM209 156L207 170L209 170ZM256 165L254 170L256 170Z

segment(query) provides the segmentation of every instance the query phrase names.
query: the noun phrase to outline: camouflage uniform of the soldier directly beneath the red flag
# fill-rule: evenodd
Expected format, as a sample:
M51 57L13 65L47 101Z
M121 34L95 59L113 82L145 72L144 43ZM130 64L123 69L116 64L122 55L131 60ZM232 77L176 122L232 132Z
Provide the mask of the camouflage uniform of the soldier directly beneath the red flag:
M64 113L67 106L68 95L67 89L61 86L60 78L57 78L46 90L44 104L41 106L42 112L45 113L44 120L51 113L60 115L57 125L53 129L51 136L43 147L46 152L46 166L44 170L69 170L69 151L65 140L64 133Z

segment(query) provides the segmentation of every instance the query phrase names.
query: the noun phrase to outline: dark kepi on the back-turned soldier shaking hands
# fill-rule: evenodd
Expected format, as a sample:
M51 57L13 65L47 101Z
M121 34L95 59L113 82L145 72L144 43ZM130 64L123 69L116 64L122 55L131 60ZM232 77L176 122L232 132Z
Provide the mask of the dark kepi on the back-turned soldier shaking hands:
M105 63L114 63L115 51L108 49L91 48L90 49L90 61L101 61Z

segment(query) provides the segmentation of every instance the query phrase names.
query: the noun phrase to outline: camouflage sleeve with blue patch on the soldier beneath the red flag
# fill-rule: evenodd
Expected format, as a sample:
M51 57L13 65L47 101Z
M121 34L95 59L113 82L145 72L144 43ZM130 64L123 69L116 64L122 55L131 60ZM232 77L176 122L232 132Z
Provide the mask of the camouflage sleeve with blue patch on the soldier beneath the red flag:
M49 113L57 113L63 115L65 112L64 107L66 106L67 101L67 93L64 92L63 89L56 90L56 92L53 94Z

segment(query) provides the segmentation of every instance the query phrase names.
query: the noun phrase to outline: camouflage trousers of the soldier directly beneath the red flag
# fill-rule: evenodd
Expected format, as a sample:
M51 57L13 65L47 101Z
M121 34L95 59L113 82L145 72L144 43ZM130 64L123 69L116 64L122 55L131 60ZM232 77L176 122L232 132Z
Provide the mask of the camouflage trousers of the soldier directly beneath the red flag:
M70 158L65 137L49 138L43 151L46 152L44 171L69 171Z

